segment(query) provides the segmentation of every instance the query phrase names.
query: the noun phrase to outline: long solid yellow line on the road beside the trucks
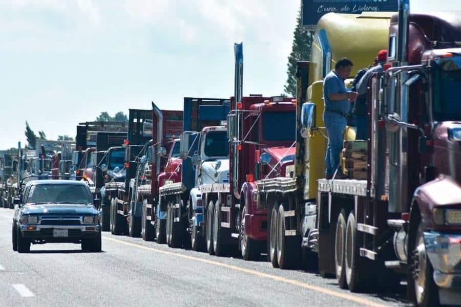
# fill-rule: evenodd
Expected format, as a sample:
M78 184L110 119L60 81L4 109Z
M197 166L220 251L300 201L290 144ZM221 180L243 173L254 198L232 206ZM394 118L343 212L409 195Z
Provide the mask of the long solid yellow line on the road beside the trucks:
M247 273L247 274L250 274L250 275L255 275L255 276L259 276L259 277L264 277L264 278L268 278L268 279L272 279L272 280L276 280L276 281L281 281L281 282L293 284L294 286L298 286L298 287L305 288L305 289L308 289L308 290L317 291L317 292L320 292L320 293L323 293L323 294L327 294L327 295L347 299L347 300L350 300L350 301L353 301L353 302L356 302L356 303L360 303L360 304L363 304L363 305L367 305L367 306L373 306L373 307L387 306L387 305L384 305L384 304L380 304L380 303L370 301L368 299L365 299L365 298L362 298L362 297L359 297L359 296L355 296L355 295L348 294L348 293L342 293L342 292L338 292L338 291L333 291L333 290L329 290L329 289L322 288L322 287L319 287L319 286L313 286L312 284L302 282L302 281L299 281L299 280L295 280L295 279L288 279L288 278L281 277L281 276L276 276L276 275L272 275L272 274L258 272L256 270L250 270L250 269L245 269L245 268L241 268L241 267L237 267L237 266L233 266L233 265L223 264L222 262L219 262L219 261L202 259L202 258L198 258L198 257L194 257L194 256L188 256L188 255L183 255L183 254L179 254L179 253L164 251L164 250L160 250L160 249L156 249L156 248L152 248L152 247L147 247L147 246L143 246L143 245L139 245L139 244L124 242L122 240L118 240L118 239L114 239L114 238L110 238L110 237L106 237L106 236L103 236L102 238L106 239L106 240L116 242L116 243L120 243L120 244L123 244L123 245L143 249L143 250L153 251L153 252L161 253L161 254L165 254L165 255L172 255L172 256L176 256L176 257L180 257L180 258L184 258L184 259L196 260L196 261L204 262L206 264L231 269L231 270L234 270L234 271L239 271L239 272Z

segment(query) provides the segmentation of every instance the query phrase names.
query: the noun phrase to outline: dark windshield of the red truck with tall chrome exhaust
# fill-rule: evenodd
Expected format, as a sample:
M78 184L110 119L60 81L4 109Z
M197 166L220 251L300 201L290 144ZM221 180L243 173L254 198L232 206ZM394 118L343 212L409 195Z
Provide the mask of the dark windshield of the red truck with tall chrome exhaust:
M262 115L264 141L295 141L296 113L265 112Z

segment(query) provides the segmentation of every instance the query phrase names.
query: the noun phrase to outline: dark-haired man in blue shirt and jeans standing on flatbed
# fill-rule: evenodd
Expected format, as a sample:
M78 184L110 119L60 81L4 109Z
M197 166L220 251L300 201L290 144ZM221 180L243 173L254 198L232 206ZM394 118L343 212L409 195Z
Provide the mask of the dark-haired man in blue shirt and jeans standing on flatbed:
M336 63L334 71L326 75L323 81L323 100L325 112L323 121L328 133L328 147L325 155L325 175L327 179L333 177L339 165L339 154L343 147L343 133L346 128L346 115L350 111L350 103L357 99L358 94L346 89L344 80L349 77L353 63L342 58ZM338 171L336 179L346 176Z

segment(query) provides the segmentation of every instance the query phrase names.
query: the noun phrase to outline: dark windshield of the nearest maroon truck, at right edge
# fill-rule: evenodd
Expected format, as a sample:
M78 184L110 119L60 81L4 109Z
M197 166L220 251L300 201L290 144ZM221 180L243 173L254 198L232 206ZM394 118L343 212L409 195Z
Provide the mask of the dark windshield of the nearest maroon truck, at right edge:
M461 120L461 58L453 57L443 62L441 68L435 91L439 99L434 99L434 117L438 121Z

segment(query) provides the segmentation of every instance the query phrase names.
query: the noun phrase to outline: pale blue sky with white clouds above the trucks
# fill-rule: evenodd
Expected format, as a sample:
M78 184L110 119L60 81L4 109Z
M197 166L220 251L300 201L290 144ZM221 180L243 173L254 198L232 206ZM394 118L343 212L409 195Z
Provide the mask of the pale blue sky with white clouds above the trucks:
M103 111L228 98L234 42L244 45L244 95L278 95L300 2L0 0L0 149L25 145L26 120L57 139ZM458 0L410 2L461 10Z

